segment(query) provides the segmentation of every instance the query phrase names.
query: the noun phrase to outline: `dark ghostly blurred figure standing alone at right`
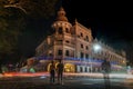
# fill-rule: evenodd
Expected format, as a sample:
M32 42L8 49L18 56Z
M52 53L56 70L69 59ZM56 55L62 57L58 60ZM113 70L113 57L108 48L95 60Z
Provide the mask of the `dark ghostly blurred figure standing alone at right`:
M109 73L111 72L111 63L108 60L104 60L101 65L103 76L104 76L104 82L105 82L105 88L110 89L110 77Z

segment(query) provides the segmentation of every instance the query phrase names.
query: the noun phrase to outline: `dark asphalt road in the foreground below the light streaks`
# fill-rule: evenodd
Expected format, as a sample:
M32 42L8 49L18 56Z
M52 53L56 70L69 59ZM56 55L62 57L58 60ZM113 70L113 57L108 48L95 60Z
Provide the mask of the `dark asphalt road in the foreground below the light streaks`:
M0 78L0 89L133 89L131 79L104 79L88 77L64 77L63 85L49 83L49 77L9 77Z

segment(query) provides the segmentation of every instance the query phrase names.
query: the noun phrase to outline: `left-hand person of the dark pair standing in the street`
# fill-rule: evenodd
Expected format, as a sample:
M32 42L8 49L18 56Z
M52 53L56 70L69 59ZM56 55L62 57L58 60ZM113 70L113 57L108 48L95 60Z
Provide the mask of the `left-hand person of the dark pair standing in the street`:
M51 61L50 65L50 83L54 83L55 80L55 66L54 66L54 61Z

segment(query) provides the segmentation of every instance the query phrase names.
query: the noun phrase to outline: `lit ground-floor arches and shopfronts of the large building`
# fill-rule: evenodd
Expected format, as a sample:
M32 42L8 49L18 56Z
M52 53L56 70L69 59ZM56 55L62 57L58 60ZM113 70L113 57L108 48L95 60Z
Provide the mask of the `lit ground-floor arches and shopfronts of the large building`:
M51 60L53 59L41 59L39 63L35 66L31 66L34 68L35 71L49 71ZM58 60L53 60L57 65L59 63ZM81 60L63 60L64 63L64 72L102 72L101 69L102 61L81 61ZM113 72L117 71L125 71L124 67L117 65L111 65L111 69Z

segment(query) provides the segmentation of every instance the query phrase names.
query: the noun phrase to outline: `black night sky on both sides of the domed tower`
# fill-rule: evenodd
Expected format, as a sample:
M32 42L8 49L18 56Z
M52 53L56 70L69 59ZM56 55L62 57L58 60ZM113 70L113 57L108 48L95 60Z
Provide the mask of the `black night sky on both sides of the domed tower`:
M76 1L76 2L75 2ZM129 2L130 3L130 2ZM126 2L98 2L83 0L62 0L55 8L63 7L69 21L78 21L92 29L94 38L115 48L123 49L127 59L132 60L133 55L133 13L132 6ZM20 36L21 56L32 57L34 50L42 42L47 34L50 34L51 19L29 20L29 28ZM30 40L30 41L29 41ZM133 61L132 61L133 62Z

